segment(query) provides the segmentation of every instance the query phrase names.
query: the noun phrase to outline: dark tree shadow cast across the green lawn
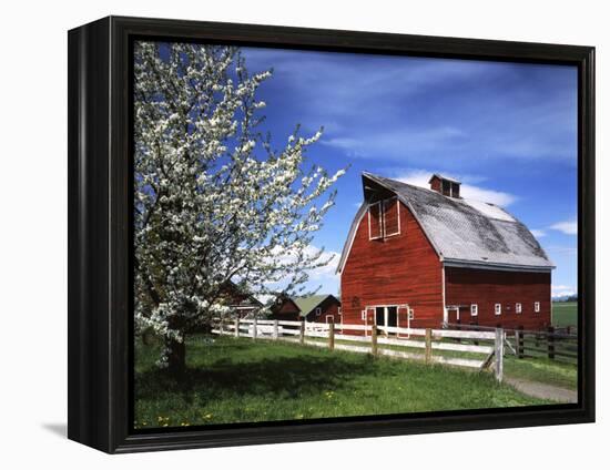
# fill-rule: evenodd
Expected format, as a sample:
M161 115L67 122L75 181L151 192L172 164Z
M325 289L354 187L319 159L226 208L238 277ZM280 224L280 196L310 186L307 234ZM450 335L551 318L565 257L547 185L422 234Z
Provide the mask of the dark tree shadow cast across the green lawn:
M364 358L363 358L364 359ZM348 361L340 357L279 357L247 362L228 358L207 367L189 368L180 380L163 370L149 369L136 375L136 397L154 400L161 394L203 392L209 398L226 395L267 395L298 397L322 390L349 387L349 379L374 370L370 360Z

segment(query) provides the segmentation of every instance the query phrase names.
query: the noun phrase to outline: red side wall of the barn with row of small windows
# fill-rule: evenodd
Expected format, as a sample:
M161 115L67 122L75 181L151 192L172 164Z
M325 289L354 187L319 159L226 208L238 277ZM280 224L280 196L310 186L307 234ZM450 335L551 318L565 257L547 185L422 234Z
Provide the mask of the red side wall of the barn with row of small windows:
M462 306L461 324L541 329L551 324L550 276L550 273L446 267L446 304ZM540 303L540 313L533 311L536 302ZM521 304L521 314L516 313L517 303ZM476 317L470 315L470 304L478 305ZM501 304L500 315L495 315L495 304ZM454 313L450 315L449 321L454 321Z

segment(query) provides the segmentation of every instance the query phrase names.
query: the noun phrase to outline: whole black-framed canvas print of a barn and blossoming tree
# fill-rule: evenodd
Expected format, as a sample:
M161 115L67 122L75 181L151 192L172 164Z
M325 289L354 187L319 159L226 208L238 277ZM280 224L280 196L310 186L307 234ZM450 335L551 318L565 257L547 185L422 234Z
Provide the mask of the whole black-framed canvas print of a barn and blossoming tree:
M69 437L591 422L593 48L69 32Z

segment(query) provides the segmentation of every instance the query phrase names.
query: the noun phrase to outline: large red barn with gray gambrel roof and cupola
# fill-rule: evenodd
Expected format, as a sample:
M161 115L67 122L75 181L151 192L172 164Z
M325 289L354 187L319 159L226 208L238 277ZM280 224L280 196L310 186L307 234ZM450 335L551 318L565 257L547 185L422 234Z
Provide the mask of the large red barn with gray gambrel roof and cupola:
M460 197L458 181L435 174L429 183L363 174L364 203L337 267L343 321L549 326L555 266L529 229Z

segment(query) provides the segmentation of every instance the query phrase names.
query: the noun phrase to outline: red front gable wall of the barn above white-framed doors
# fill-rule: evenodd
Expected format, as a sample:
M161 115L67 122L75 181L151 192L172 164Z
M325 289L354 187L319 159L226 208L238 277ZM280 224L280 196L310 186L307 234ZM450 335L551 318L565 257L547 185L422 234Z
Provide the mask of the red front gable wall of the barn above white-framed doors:
M408 304L411 327L439 327L443 320L443 270L433 246L400 203L400 234L368 239L368 215L362 218L340 277L343 321L362 324L360 311L375 305ZM401 309L400 326L407 325Z

